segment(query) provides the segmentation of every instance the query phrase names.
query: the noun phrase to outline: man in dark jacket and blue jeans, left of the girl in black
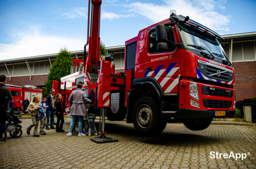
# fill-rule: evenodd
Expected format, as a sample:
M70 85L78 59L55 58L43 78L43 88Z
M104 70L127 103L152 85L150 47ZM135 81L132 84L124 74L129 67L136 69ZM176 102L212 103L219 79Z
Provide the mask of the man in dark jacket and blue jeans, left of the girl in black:
M50 130L50 129L55 129L53 126L53 121L54 121L54 115L55 115L55 108L53 108L53 103L54 103L54 99L55 99L55 90L51 89L50 94L46 97L46 103L49 106L49 111L48 111L48 116L47 116L47 124L46 124L46 130ZM51 120L50 120L51 119ZM49 125L49 121L50 121L50 129L48 127Z

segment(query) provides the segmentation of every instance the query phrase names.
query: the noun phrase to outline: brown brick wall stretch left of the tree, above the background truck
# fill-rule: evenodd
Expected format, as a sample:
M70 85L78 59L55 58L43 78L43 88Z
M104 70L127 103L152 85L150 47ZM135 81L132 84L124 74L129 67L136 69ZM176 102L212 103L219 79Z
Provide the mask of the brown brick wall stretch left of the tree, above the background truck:
M48 75L36 75L36 76L19 76L19 77L12 77L11 80L9 77L6 79L7 84L17 85L17 86L25 86L25 85L32 85L32 86L44 86L44 81L47 80Z

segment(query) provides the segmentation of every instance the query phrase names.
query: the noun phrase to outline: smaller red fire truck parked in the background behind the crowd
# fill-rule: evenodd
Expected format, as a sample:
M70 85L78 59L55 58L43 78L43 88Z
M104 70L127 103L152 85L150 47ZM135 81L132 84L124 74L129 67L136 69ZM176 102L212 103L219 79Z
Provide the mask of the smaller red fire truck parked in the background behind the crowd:
M13 104L12 108L14 111L22 111L23 107L23 101L27 97L29 101L33 99L33 94L34 95L39 95L42 97L43 95L43 90L42 89L37 89L35 86L16 86L16 85L10 85L6 84L6 86L10 89L11 95L13 97Z

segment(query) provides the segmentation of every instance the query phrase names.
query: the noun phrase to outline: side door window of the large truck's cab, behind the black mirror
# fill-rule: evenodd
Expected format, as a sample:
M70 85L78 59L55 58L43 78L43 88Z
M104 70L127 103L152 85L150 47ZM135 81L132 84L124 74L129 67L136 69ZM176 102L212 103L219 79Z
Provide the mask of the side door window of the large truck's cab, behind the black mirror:
M167 31L168 40L173 41L175 43L172 26L166 25L166 31ZM149 53L158 53L157 44L159 42L156 40L156 29L151 30L149 34L150 34L150 36L149 36ZM175 50L175 47L173 46L172 43L167 42L167 45L168 45L167 52L172 52Z

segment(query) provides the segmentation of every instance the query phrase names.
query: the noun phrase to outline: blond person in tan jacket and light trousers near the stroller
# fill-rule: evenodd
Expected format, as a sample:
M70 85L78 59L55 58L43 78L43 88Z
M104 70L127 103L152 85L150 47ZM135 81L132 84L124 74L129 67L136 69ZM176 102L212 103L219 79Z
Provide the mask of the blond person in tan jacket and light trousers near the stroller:
M40 96L38 96L38 95L34 96L33 100L28 105L28 111L31 114L31 120L32 120L33 124L28 126L27 134L30 135L30 131L31 131L32 127L34 126L33 137L40 136L40 135L38 135L38 124L39 124L40 119L38 119L38 112L37 112L37 110L39 109L39 105L42 106L42 104L40 103Z

